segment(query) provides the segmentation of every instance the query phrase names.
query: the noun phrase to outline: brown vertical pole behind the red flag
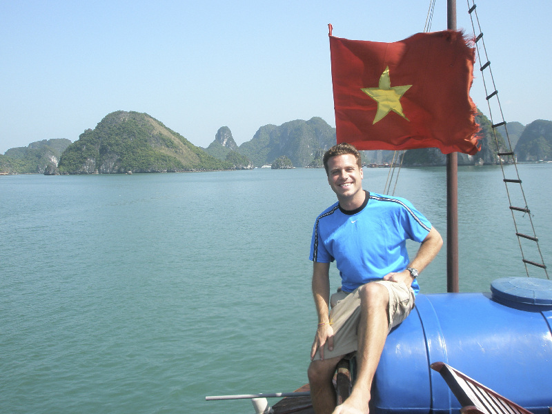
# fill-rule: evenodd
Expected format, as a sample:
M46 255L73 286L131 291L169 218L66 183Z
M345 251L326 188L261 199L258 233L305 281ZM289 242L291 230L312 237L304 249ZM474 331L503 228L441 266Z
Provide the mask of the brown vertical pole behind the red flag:
M446 0L446 28L456 30L456 0ZM458 157L446 155L446 291L459 292L458 283Z

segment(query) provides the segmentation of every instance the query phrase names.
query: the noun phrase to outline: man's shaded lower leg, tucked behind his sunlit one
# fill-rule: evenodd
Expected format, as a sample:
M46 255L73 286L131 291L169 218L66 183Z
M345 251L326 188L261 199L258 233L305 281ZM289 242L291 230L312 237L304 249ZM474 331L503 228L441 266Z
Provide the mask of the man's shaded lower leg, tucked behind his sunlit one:
M337 396L333 387L333 375L343 356L317 359L308 367L308 383L311 385L311 400L316 414L331 414Z

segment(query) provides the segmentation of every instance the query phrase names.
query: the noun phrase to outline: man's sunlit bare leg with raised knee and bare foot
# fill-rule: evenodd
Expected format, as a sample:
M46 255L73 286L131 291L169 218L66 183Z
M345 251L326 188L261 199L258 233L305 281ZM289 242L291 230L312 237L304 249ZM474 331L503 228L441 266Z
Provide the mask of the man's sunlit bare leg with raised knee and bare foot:
M377 283L362 286L358 326L357 379L351 395L343 404L335 408L334 414L367 414L369 411L368 403L370 402L372 380L387 339L388 304L389 294L385 286ZM319 414L316 407L315 412ZM323 412L321 411L321 413Z

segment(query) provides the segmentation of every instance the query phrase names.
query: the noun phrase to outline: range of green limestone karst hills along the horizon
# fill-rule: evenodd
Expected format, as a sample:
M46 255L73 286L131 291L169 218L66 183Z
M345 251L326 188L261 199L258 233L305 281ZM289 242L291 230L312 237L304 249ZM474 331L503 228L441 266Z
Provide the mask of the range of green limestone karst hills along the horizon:
M509 148L517 161L552 161L552 121L538 119L527 126L508 123L493 136L481 112L481 150L458 154L459 165L496 164L497 152ZM335 144L335 128L319 117L296 119L280 126L261 126L253 138L237 145L230 128L222 126L207 148L195 146L161 121L141 112L112 112L75 142L43 139L0 155L0 174L124 174L128 172L191 172L272 168L320 168L324 150ZM362 151L365 164L391 163L393 151ZM405 166L443 166L446 157L436 148L406 151Z

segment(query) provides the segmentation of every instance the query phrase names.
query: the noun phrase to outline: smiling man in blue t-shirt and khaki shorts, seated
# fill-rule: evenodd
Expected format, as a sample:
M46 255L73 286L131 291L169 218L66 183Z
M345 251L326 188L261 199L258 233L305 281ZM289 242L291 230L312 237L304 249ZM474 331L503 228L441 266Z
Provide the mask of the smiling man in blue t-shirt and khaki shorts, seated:
M420 290L416 277L443 242L405 199L362 189L362 162L354 146L330 148L324 168L337 203L317 217L311 242L318 314L308 368L311 399L316 414L366 414L387 334L412 310ZM421 243L413 260L408 259L406 239ZM330 297L334 260L342 286ZM351 396L336 407L333 374L339 360L353 351L357 380Z

